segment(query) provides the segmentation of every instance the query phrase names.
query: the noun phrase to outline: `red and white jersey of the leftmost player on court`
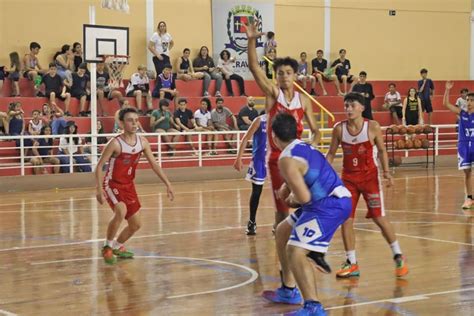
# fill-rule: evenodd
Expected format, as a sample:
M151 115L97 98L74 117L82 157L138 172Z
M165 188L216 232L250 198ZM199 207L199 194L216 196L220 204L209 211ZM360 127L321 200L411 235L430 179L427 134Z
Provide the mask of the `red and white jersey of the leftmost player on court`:
M135 145L127 144L122 137L116 136L115 139L120 144L120 154L109 160L109 168L104 178L104 187L108 186L109 181L118 184L130 184L135 179L135 170L137 169L140 156L143 152L142 139L135 135Z

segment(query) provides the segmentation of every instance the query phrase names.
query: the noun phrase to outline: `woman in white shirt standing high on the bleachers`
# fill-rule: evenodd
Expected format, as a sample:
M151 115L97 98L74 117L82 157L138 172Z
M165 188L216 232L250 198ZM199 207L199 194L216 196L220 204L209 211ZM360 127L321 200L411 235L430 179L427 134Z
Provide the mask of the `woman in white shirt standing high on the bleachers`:
M170 50L173 48L173 37L167 32L166 23L160 21L156 32L153 33L148 42L148 49L154 55L153 64L155 64L156 75L163 72L163 67L170 62Z

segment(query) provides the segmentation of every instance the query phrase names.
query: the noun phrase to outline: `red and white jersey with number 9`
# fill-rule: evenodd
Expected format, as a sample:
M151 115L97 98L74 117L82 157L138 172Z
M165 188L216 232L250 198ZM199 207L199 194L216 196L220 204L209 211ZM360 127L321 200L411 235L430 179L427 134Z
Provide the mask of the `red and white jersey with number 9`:
M347 121L342 127L342 177L357 178L364 174L378 172L377 147L369 138L369 121L364 120L362 129L357 135L352 135L347 129Z

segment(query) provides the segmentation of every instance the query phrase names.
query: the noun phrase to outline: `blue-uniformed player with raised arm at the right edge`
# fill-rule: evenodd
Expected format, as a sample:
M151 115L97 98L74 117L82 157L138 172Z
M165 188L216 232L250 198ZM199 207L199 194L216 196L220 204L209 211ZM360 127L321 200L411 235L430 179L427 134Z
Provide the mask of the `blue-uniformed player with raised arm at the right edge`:
M453 82L446 82L443 104L453 113L459 115L458 121L458 168L464 171L466 201L462 208L467 210L474 206L472 200L471 166L474 164L474 93L467 94L467 112L449 103L449 90Z

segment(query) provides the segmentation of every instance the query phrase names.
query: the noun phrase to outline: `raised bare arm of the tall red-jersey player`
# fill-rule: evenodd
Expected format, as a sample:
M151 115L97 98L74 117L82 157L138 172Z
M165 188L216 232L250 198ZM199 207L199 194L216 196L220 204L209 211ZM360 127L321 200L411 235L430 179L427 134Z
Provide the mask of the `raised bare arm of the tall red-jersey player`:
M262 32L258 31L258 20L251 20L245 25L248 38L248 61L249 69L260 89L266 96L273 98L278 97L277 87L265 76L265 72L260 68L257 58L257 38L262 36Z

